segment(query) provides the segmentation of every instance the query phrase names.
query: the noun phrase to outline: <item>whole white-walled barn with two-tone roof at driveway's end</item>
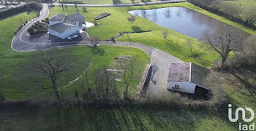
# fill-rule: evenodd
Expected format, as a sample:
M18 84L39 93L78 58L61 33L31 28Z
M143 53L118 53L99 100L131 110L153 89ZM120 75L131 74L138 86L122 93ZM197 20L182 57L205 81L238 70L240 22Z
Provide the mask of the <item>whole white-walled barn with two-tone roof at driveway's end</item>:
M211 90L205 86L205 80L211 71L193 63L173 63L169 68L167 90L189 94L208 95Z

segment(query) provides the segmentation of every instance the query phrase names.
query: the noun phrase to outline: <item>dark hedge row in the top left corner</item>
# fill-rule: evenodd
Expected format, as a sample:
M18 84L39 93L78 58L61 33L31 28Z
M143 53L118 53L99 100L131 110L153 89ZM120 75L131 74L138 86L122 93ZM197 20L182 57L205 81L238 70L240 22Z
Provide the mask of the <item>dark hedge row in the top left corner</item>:
M11 15L15 15L20 12L30 12L33 10L40 11L41 9L42 9L41 4L37 4L37 3L24 4L23 6L7 9L0 12L0 19L4 17L10 17Z

